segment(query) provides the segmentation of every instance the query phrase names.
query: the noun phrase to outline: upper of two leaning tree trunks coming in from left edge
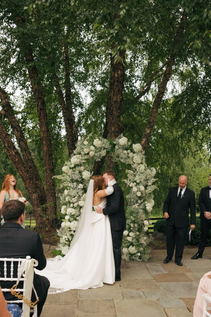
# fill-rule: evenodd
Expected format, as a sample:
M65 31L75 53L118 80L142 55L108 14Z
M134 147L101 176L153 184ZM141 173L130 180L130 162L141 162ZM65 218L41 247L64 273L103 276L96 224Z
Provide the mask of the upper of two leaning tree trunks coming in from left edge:
M4 109L4 116L10 123L11 128L13 129L17 143L20 147L20 150L23 155L23 160L26 166L28 173L33 171L33 183L35 185L36 191L34 195L37 195L40 199L40 206L46 204L46 193L44 186L42 184L40 174L37 170L36 165L34 164L34 160L32 158L31 152L29 151L28 144L24 137L21 126L19 125L18 120L16 119L13 109L8 101L6 92L0 86L0 99L2 102L2 107Z

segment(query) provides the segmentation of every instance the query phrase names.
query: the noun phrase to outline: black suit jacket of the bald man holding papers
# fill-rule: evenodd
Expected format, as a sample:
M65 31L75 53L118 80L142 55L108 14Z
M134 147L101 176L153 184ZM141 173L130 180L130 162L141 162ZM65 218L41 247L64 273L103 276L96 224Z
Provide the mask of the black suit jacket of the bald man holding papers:
M190 224L195 224L195 193L186 187L183 197L177 201L178 187L170 188L168 196L164 202L163 213L168 212L169 218L166 223L177 228L188 228L189 226L189 209Z

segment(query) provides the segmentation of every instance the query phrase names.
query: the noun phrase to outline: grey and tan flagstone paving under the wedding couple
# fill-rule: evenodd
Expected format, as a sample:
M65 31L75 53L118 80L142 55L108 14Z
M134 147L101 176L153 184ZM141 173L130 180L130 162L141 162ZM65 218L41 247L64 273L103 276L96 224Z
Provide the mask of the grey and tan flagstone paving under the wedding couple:
M46 257L56 248L43 247ZM121 281L49 294L41 317L193 317L198 283L211 270L211 247L191 260L196 251L184 250L183 266L164 264L165 250L152 250L147 262L122 261Z

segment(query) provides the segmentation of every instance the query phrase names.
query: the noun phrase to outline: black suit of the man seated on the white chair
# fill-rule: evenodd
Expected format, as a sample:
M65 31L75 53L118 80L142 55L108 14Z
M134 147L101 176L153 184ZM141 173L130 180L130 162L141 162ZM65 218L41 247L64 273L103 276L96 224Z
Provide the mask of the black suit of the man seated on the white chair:
M31 256L31 258L38 261L36 269L42 270L46 267L46 257L43 252L39 233L23 229L18 223L3 223L0 227L0 257L17 259L26 258L26 256ZM4 262L0 262L1 277L3 277L4 272L3 264ZM16 272L17 268L14 263L14 277L16 277ZM11 288L14 284L14 281L0 281L1 288ZM39 300L41 301L49 287L49 281L46 277L34 273L33 284ZM22 286L22 281L20 281L18 285ZM4 297L8 301L16 300L16 297L9 292L5 292ZM33 291L32 301L36 301Z

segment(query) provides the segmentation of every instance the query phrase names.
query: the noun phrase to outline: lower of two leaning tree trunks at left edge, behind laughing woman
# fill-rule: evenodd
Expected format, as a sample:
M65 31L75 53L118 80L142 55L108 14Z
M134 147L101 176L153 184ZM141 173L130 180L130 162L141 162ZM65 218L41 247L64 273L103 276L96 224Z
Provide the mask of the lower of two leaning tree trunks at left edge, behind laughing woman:
M34 210L34 215L36 218L36 226L39 228L45 227L45 218L43 214L40 213L40 205L44 204L45 201L40 200L39 189L37 189L37 185L34 182L34 174L36 171L30 168L30 172L28 170L27 165L22 160L22 157L18 150L16 149L14 143L12 142L9 134L7 133L3 122L0 118L0 139L3 143L3 146L6 150L9 159L11 159L12 163L15 165L18 173L20 174L26 190L28 191L30 201Z

